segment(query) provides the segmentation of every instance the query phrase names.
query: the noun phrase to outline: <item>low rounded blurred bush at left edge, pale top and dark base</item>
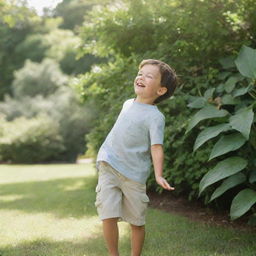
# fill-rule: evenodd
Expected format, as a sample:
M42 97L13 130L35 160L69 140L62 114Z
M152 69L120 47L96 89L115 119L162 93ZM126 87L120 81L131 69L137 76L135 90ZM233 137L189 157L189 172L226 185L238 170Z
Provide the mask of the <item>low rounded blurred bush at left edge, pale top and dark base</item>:
M12 122L0 117L0 160L39 163L54 159L65 147L59 124L47 115L32 119L19 117Z

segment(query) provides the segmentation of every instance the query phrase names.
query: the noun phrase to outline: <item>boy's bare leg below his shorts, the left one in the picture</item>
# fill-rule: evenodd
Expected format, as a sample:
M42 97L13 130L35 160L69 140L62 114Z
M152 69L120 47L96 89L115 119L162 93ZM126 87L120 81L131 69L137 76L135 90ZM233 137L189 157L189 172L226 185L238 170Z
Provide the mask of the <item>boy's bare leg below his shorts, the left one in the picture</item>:
M111 256L119 256L118 253L118 218L103 220L103 234Z

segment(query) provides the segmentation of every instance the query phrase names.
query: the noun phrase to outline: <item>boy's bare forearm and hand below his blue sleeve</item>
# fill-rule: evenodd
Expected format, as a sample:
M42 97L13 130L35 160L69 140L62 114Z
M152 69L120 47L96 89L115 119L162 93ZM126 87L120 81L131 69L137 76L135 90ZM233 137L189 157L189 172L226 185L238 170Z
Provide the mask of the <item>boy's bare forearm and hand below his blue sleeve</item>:
M164 150L163 145L155 144L151 146L151 155L154 165L156 182L167 190L174 190L163 177Z

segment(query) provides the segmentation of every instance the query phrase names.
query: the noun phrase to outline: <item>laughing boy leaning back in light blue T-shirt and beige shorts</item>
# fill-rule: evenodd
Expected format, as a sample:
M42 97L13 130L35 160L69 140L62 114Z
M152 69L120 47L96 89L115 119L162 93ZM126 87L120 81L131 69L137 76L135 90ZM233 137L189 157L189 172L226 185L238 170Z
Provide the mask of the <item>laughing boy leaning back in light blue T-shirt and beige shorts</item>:
M153 160L156 182L174 190L163 178L165 117L155 104L169 98L177 85L175 72L159 60L143 60L134 80L137 97L124 102L96 161L98 214L111 256L118 253L118 220L131 225L132 256L141 255L145 237L145 211L149 198L146 180Z

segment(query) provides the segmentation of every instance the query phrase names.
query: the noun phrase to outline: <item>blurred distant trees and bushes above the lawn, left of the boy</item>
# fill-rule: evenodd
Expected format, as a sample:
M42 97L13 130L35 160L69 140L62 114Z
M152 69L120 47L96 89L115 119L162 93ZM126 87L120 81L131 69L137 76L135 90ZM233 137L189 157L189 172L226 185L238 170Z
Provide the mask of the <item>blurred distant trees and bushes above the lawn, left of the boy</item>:
M71 84L102 60L77 59L81 39L61 15L38 16L24 1L0 6L0 161L74 162L94 112Z

